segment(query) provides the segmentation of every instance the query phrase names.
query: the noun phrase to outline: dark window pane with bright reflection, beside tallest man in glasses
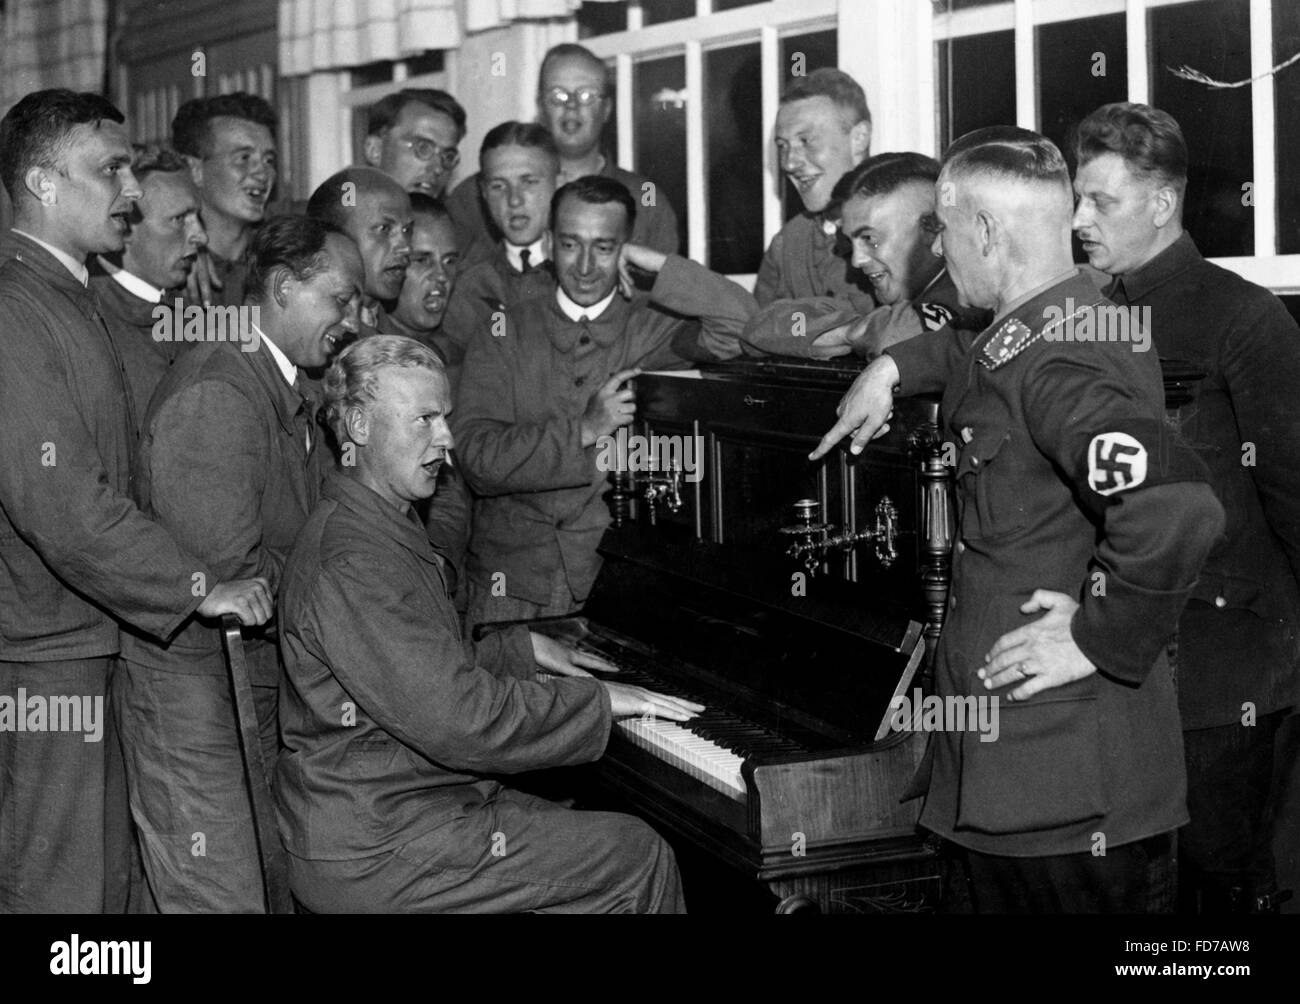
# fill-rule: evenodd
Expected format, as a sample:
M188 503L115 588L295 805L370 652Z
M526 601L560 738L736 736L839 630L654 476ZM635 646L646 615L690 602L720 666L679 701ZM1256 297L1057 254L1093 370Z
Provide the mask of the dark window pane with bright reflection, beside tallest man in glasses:
M637 172L668 196L677 211L685 247L686 215L686 57L646 60L632 68L633 134ZM698 100L692 95L692 100Z

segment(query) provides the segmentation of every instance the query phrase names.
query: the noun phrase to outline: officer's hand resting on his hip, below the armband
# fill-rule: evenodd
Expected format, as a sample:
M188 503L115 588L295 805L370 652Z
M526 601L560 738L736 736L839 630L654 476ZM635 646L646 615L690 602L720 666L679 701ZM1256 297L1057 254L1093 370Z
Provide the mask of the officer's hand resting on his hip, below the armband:
M1023 701L1040 691L1082 680L1097 671L1070 633L1070 620L1079 603L1065 593L1035 589L1020 605L1022 614L1045 611L1031 624L1008 631L984 657L979 678L989 689L1020 684L1006 694Z

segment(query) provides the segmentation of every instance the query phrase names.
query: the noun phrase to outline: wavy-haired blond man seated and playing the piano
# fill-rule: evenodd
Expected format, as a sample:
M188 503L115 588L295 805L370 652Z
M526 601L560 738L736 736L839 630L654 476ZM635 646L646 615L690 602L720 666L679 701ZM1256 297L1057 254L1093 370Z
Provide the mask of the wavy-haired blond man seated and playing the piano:
M325 404L355 463L326 482L281 590L276 792L294 895L315 912L680 912L672 852L644 822L499 778L597 760L618 715L680 722L699 705L599 683L581 667L607 663L523 627L462 641L412 512L452 442L430 349L363 338L326 375Z

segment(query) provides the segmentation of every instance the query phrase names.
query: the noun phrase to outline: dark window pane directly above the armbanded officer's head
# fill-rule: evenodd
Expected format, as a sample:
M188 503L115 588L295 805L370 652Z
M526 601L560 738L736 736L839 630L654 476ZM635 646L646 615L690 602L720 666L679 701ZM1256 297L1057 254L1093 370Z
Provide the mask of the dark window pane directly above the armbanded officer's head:
M1040 131L1074 172L1074 129L1089 112L1128 95L1124 16L1089 17L1037 29Z

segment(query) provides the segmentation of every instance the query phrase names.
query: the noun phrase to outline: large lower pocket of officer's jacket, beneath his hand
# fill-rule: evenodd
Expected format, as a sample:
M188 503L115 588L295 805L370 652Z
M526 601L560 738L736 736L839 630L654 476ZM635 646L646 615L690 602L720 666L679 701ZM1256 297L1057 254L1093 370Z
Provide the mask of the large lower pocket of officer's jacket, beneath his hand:
M997 732L962 735L957 828L1054 830L1106 814L1097 698L998 702Z

